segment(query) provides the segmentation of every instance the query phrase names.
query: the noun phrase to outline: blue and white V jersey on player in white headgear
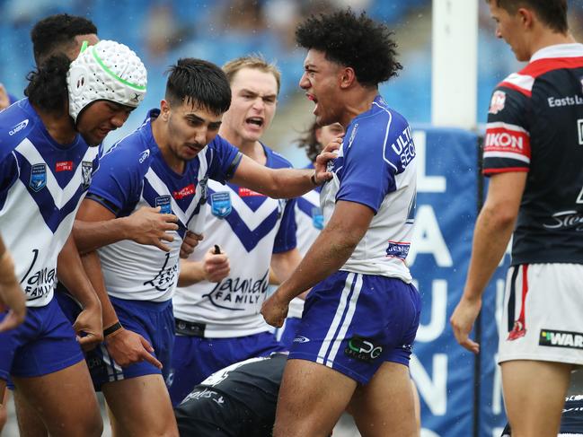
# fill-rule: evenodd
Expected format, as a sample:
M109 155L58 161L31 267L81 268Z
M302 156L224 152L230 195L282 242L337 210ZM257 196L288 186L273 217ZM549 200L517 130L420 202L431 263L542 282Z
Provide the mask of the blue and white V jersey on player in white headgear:
M0 232L27 306L53 297L57 256L99 165L81 135L58 144L28 99L0 113Z

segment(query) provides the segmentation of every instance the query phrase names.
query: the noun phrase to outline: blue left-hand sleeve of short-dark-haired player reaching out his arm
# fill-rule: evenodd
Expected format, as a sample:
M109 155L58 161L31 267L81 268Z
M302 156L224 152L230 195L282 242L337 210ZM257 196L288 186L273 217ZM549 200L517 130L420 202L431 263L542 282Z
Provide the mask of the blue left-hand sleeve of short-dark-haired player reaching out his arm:
M135 148L124 144L105 153L93 176L87 198L119 216L139 200L149 156L149 150L138 153Z

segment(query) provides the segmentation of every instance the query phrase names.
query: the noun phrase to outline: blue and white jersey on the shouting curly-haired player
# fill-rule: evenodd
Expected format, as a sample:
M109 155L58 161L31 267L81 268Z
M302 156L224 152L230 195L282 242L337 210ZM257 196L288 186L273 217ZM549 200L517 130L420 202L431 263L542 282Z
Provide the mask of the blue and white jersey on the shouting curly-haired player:
M417 160L407 120L376 96L372 108L350 122L338 158L328 165L333 178L322 187L324 224L339 200L367 205L375 212L367 233L340 270L410 283L405 259L415 219Z

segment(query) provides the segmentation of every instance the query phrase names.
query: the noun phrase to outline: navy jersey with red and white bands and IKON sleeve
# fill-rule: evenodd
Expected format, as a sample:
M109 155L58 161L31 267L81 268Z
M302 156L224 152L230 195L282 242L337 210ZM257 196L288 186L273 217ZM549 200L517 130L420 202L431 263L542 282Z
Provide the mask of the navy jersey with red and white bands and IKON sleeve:
M583 263L583 45L537 51L492 94L484 174L527 171L512 264Z

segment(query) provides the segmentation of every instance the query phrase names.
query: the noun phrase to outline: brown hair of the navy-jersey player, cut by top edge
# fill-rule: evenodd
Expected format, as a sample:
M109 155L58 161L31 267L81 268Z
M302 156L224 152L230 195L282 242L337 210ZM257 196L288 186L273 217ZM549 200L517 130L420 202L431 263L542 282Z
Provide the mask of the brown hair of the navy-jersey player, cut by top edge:
M532 9L539 20L553 31L567 33L567 0L486 0L486 3L496 4L511 15L517 13L518 8Z

